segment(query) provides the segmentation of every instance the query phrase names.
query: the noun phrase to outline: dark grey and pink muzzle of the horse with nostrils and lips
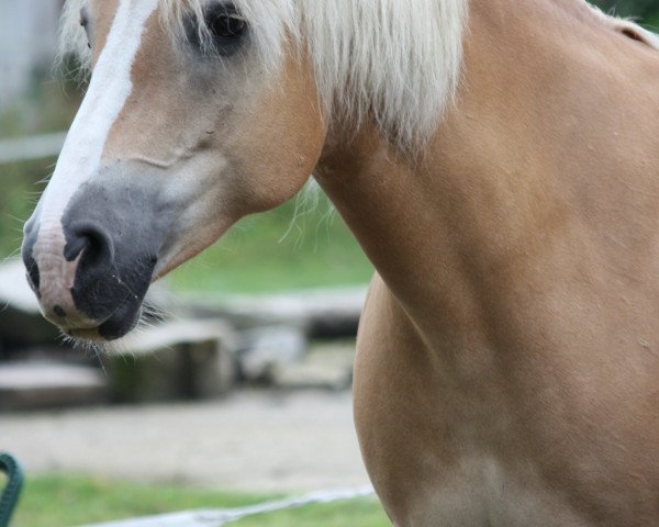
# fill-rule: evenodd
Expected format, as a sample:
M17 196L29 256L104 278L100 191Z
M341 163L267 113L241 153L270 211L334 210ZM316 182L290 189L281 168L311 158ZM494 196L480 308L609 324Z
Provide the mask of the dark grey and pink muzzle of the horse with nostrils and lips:
M148 206L153 197L124 192L87 183L59 218L37 208L25 225L30 285L43 315L71 337L114 340L139 319L166 221Z

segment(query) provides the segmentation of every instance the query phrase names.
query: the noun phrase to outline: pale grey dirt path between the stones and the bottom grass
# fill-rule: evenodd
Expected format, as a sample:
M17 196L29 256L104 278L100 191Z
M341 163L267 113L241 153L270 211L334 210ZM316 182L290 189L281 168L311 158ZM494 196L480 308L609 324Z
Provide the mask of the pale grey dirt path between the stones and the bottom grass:
M196 404L0 415L0 450L55 471L224 490L306 492L368 483L350 393L242 391Z

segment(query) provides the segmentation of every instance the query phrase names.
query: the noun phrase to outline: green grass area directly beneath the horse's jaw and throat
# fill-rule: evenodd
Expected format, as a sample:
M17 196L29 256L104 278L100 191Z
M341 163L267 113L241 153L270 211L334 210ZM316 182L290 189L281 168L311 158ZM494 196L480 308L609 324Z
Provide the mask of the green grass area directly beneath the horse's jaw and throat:
M353 234L321 198L306 212L295 213L291 201L243 220L169 282L197 295L261 293L362 284L372 272Z

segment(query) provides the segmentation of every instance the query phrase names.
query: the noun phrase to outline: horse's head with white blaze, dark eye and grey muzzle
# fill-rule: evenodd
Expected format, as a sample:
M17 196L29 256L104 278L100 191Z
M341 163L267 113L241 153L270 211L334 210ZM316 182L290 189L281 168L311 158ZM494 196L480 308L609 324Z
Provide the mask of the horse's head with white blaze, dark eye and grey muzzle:
M281 34L290 2L272 3L67 3L63 40L91 77L22 249L67 335L122 337L153 280L308 180L325 125Z

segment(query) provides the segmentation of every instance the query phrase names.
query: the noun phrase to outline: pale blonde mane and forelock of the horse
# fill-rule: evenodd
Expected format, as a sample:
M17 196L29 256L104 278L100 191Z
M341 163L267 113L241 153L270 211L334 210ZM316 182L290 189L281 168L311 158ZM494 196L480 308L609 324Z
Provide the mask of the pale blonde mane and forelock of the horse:
M79 26L83 0L67 0L62 54L83 67L89 49ZM180 32L209 0L160 0L164 27ZM462 61L468 0L234 0L255 30L268 70L292 44L309 52L327 116L360 122L367 115L392 141L425 141L454 99ZM290 46L289 46L290 47Z

